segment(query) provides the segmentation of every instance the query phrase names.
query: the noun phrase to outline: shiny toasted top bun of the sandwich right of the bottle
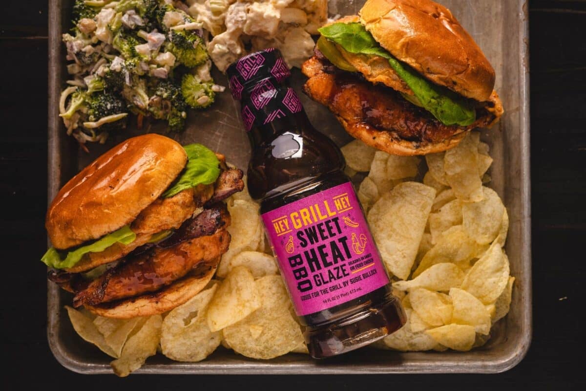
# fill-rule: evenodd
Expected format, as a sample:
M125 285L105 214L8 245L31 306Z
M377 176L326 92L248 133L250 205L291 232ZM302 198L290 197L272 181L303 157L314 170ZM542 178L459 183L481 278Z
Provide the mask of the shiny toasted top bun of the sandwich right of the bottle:
M368 0L360 22L384 49L433 83L488 100L495 71L449 9L431 0Z

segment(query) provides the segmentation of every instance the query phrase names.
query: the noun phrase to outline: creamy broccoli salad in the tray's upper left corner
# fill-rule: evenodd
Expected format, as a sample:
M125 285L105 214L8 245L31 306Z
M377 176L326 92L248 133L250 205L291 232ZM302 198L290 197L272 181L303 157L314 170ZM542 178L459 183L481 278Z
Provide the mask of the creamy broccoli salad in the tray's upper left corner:
M69 85L60 117L84 147L126 127L128 114L165 120L182 131L187 110L205 108L224 87L210 76L203 24L182 2L76 0L63 35ZM86 147L84 147L86 148Z

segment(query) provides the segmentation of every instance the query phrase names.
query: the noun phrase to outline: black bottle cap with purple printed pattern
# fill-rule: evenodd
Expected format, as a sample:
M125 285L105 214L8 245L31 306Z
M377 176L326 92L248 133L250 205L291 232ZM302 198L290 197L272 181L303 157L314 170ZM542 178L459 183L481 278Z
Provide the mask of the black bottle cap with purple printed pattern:
M236 100L241 100L243 91L252 90L260 81L271 79L282 83L291 76L281 52L270 47L260 52L250 53L226 70L230 91Z

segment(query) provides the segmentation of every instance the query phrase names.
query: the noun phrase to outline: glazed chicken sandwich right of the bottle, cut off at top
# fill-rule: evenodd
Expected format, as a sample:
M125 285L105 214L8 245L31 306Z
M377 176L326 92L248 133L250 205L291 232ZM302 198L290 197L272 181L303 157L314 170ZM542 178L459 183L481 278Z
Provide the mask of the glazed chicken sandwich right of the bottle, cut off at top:
M395 155L455 147L503 113L495 72L451 12L430 0L369 0L319 29L304 90L353 137Z

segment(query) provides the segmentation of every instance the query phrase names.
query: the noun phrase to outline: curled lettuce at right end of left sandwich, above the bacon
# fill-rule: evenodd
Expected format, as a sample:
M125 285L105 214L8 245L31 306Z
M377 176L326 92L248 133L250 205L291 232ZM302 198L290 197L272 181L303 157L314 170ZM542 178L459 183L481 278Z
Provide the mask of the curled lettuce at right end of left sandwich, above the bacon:
M214 152L202 144L185 145L188 162L179 178L162 195L168 198L199 184L209 185L216 182L220 175L220 161Z

